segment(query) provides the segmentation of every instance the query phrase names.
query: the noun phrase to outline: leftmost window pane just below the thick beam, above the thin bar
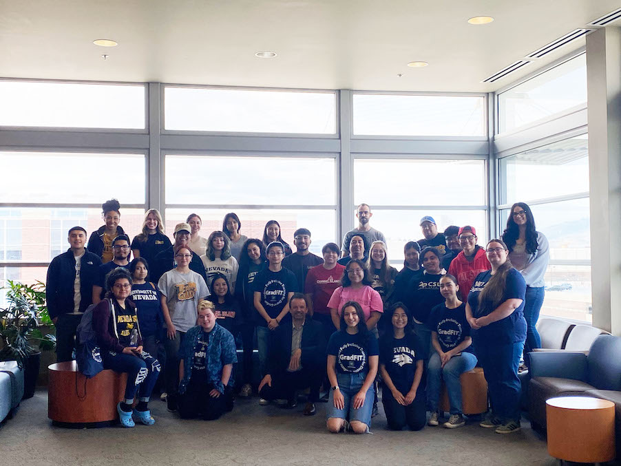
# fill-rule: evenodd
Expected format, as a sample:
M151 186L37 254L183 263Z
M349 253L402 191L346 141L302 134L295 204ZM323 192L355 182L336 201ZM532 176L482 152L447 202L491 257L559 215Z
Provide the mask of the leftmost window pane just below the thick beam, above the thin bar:
M0 152L0 172L2 202L145 202L143 154Z

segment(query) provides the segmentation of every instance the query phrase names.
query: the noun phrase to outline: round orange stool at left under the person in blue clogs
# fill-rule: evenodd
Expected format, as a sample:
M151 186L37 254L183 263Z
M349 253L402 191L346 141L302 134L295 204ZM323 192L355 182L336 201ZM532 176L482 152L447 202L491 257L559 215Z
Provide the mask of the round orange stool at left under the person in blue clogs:
M103 427L118 420L127 374L103 370L92 379L78 372L76 361L50 364L48 418L59 427Z

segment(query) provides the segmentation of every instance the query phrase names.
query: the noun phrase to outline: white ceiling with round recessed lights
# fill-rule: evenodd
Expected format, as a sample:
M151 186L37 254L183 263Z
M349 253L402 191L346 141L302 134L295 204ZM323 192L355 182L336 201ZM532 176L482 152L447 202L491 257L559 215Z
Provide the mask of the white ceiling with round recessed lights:
M0 76L491 92L585 39L495 83L483 79L620 6L620 0L0 0ZM467 23L478 15L495 21ZM94 39L118 46L97 47ZM278 56L259 59L259 50ZM413 69L410 61L429 65Z

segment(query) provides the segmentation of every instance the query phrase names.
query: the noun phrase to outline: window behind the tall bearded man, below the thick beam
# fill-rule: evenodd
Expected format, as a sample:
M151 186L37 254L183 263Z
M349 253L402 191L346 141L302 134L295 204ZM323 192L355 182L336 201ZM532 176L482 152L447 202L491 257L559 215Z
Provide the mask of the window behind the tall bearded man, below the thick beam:
M485 244L486 179L485 160L356 158L354 200L371 206L370 224L386 236L392 266L401 268L403 246L423 237L420 220L425 215L434 218L439 232L450 225L472 225L478 244Z

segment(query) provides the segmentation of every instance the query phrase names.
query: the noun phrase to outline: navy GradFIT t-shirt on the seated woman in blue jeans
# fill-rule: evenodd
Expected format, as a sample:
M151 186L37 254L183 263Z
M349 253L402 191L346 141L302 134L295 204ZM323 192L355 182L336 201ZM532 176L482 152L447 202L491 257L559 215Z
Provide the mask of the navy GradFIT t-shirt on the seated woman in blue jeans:
M454 309L446 307L445 303L438 304L431 310L427 326L438 334L438 343L443 352L458 346L465 337L470 337L470 324L465 319L465 303ZM472 345L465 352L474 352Z

